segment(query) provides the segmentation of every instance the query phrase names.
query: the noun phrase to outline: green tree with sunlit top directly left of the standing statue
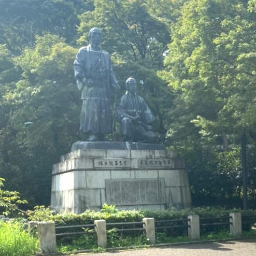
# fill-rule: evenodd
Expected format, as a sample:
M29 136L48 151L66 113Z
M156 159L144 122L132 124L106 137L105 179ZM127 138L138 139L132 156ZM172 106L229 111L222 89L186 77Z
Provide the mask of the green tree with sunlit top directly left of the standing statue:
M79 93L71 63L77 49L64 39L36 37L12 64L22 77L3 93L1 176L31 205L49 204L52 164L79 139ZM8 170L8 172L7 172ZM24 186L26 184L26 186Z

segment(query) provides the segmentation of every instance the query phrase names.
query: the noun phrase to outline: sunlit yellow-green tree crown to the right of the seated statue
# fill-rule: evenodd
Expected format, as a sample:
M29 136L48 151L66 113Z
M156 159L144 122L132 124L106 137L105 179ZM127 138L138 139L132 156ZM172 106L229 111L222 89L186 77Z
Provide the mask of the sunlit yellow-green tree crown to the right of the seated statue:
M160 75L177 92L170 137L221 137L227 146L228 136L240 135L241 127L254 130L253 6L252 1L184 4L172 27L172 43Z

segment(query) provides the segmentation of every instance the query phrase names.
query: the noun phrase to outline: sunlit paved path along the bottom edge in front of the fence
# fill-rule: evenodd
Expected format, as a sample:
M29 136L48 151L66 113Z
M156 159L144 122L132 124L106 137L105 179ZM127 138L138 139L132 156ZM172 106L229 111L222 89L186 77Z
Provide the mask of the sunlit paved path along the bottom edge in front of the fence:
M255 256L256 240L236 240L159 247L140 250L111 251L104 253L76 254L76 256Z

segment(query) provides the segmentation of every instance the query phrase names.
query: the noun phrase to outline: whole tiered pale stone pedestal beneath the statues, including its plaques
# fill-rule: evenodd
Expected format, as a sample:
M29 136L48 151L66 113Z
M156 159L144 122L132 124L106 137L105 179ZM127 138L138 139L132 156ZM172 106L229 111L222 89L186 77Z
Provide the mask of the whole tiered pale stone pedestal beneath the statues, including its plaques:
M51 205L76 214L104 203L118 209L190 207L184 168L173 151L77 149L53 165Z

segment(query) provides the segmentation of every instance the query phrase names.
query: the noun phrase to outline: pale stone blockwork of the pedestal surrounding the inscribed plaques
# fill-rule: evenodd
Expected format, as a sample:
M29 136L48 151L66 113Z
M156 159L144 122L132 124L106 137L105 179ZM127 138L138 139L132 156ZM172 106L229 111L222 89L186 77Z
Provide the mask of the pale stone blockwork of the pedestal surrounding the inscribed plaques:
M109 163L109 166L95 168L95 161L113 159L129 160L131 165L115 168ZM188 173L182 169L184 161L177 159L174 151L79 149L63 155L61 160L62 162L53 165L53 174L56 175L52 177L51 205L57 210L77 213L86 209L99 210L102 204L107 202L105 181L109 179L164 179L165 204L161 202L155 205L152 204L154 202L151 202L152 205L135 203L132 206L118 206L118 208L165 209L170 206L191 206ZM144 166L146 163L138 164L140 160L155 160L161 163L158 167L153 167L152 163L150 163L151 167L147 167ZM171 167L168 167L170 164L163 166L163 161L167 163L172 161L175 164ZM151 195L151 191L147 194Z

